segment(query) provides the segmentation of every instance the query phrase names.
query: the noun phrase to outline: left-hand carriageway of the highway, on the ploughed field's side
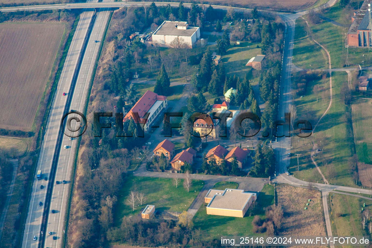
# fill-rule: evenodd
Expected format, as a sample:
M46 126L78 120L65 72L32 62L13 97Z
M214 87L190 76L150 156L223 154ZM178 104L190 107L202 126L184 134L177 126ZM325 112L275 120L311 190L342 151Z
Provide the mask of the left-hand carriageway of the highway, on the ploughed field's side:
M37 247L40 239L40 228L44 206L39 206L39 203L41 202L42 205L45 203L49 173L52 168L52 158L54 156L60 121L67 99L66 96L63 96L63 93L69 91L73 74L76 69L77 59L83 46L84 37L87 33L92 14L93 12L84 12L80 16L55 91L36 167L36 171L41 170L42 179L37 180L35 174L35 180L32 184L32 193L22 239L22 247L24 248ZM47 181L44 180L44 177L47 177ZM41 185L43 186L43 189L41 189ZM36 236L36 240L33 240L34 236Z

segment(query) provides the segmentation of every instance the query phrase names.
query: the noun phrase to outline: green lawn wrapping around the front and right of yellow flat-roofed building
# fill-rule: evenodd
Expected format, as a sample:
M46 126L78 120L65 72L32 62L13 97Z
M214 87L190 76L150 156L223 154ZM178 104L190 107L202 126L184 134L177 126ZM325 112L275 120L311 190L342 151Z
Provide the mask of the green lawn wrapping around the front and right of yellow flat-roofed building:
M231 184L231 183L230 183ZM274 203L274 187L266 184L257 196L259 215L263 218L263 207ZM208 240L219 239L221 235L264 235L264 233L252 232L252 220L254 216L244 218L207 215L206 203L203 204L193 218L194 227L204 231L204 237Z

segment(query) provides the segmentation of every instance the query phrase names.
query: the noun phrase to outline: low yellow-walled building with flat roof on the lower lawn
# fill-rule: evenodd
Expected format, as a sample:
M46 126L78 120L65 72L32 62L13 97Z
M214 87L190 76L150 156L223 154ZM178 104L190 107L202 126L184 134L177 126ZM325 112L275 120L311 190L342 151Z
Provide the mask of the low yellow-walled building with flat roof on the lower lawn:
M244 192L244 190L210 189L204 200L208 203L207 215L221 215L243 218L249 206L257 198L256 193Z

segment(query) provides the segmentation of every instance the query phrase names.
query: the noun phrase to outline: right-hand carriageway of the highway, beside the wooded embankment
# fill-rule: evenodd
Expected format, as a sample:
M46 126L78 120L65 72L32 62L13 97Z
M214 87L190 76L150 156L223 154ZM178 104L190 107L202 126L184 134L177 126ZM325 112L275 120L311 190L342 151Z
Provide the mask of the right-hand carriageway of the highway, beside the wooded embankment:
M105 32L106 23L109 18L109 11L103 10L97 13L89 41L87 43L86 51L81 62L80 72L78 74L74 95L72 97L70 108L83 112L84 104L89 88L90 79L94 68L94 63L98 54L100 42L102 41L103 33ZM96 42L98 41L98 42ZM69 115L74 116L74 115ZM77 116L77 115L76 115ZM76 122L72 124L75 130ZM78 124L79 125L79 124ZM72 135L70 135L72 136ZM64 145L67 146L64 149ZM50 202L50 210L55 210L55 213L49 213L47 228L46 228L46 247L60 247L61 237L64 235L65 212L68 197L68 187L70 183L71 169L73 168L74 152L76 149L76 138L70 140L69 136L63 135L61 152L57 164L57 171L55 174L56 181L66 181L66 184L55 184ZM51 235L48 233L51 232ZM57 239L53 239L57 236Z

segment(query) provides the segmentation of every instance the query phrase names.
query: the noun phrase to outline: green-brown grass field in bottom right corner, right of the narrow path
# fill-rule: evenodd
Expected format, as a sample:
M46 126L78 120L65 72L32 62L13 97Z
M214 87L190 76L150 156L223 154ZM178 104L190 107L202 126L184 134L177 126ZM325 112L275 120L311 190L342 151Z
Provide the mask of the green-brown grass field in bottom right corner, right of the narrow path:
M332 234L334 236L343 235L369 235L368 224L366 229L363 230L362 223L360 223L360 218L362 218L362 213L359 211L363 207L363 203L366 203L366 207L363 207L363 212L369 210L372 211L372 201L361 199L354 196L347 196L344 194L329 194L328 196L328 206L330 206L330 215L332 225ZM332 200L332 204L330 204ZM344 247L344 246L343 246Z

